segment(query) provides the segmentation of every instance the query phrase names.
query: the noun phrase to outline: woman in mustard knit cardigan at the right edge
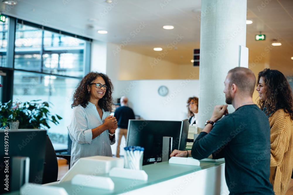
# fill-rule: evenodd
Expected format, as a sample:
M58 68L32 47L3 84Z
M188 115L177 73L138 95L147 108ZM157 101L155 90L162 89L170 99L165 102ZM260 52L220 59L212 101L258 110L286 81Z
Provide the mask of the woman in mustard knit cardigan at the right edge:
M286 77L278 70L258 73L258 106L270 122L270 182L276 195L286 194L293 169L293 96Z

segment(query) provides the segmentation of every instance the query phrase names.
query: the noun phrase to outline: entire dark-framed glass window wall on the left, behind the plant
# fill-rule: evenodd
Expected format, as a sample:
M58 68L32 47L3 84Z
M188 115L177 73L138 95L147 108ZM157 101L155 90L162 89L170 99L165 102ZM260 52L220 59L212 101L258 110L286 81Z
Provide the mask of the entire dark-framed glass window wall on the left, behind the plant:
M0 22L0 71L8 71L13 79L0 76L0 84L11 89L5 90L11 92L8 100L25 102L40 99L51 103L49 111L63 119L58 125L49 124L48 135L55 150L67 149L72 94L84 73L89 71L89 59L84 59L84 56L90 52L86 48L90 48L91 39L10 19L10 22ZM15 36L14 33L11 36L11 30L9 32L11 26L15 29ZM11 58L6 58L8 51L14 52ZM2 101L6 94L1 88Z

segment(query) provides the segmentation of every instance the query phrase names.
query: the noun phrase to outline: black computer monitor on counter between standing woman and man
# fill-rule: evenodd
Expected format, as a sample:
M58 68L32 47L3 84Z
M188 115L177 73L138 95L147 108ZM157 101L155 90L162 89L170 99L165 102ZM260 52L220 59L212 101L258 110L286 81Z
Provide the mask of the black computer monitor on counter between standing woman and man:
M163 137L172 137L172 150L185 150L188 119L129 120L126 146L144 147L143 165L162 162Z

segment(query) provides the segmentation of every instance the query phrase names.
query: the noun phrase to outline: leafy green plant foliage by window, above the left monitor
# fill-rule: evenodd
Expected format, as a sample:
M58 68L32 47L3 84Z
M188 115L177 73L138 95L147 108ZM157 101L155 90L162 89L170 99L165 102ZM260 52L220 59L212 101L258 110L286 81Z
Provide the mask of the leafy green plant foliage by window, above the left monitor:
M59 124L62 117L50 113L48 102L32 100L24 103L12 102L0 103L0 122L2 128L9 122L19 122L21 129L50 128L48 122ZM11 127L10 127L11 128Z

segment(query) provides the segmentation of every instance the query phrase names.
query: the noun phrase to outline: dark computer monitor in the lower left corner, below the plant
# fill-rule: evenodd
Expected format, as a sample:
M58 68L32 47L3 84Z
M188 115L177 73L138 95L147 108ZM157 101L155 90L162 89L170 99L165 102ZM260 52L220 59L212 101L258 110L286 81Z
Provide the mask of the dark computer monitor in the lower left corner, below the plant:
M0 153L0 175L3 175L5 177L6 175L8 175L8 181L10 186L9 189L11 189L12 175L19 175L19 173L12 169L12 157L15 156L27 156L30 158L30 171L28 181L30 183L42 184L46 149L46 134L46 130L39 129L0 130L0 146L3 147L3 151ZM6 149L5 151L4 147ZM4 182L5 181L3 178L0 182L2 186L0 194L1 192L7 193L7 191L4 190Z

